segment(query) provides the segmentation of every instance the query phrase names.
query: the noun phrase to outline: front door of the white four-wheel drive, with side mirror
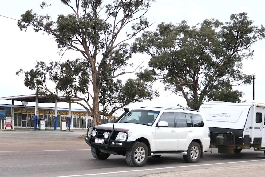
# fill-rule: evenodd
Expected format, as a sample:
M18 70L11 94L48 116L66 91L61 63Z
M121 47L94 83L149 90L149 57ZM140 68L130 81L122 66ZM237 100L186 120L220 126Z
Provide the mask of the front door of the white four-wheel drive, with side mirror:
M168 127L155 128L155 149L154 151L176 151L177 130L173 112L164 112L158 122L166 121Z

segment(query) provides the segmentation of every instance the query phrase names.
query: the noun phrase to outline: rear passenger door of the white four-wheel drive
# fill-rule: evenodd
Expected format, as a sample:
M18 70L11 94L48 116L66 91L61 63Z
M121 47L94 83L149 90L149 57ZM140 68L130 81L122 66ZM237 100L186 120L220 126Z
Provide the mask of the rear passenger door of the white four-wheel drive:
M190 140L194 134L194 127L192 125L191 115L187 113L175 112L175 119L178 132L177 150L186 151L188 149Z

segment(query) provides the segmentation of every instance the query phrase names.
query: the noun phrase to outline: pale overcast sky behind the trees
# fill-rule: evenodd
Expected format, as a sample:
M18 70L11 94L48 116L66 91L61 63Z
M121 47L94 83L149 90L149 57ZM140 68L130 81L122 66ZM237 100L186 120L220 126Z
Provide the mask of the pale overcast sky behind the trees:
M26 10L33 9L38 14L45 14L47 10L40 8L39 0L13 0L13 1L0 1L0 15L19 19L20 15ZM48 13L53 19L57 18L58 14L71 13L70 9L63 6L59 0L47 0L50 3ZM111 2L107 0L105 2ZM148 30L156 30L156 26L161 22L165 23L180 23L186 20L188 25L193 26L202 22L204 19L215 18L222 22L229 20L231 14L247 12L249 17L255 22L255 25L265 24L265 2L260 0L156 0L151 5L150 10L146 14L149 22L154 23ZM57 61L61 58L57 54L57 44L52 38L42 32L35 33L33 30L28 29L20 31L17 26L17 21L4 18L0 16L0 97L17 96L34 94L33 90L28 89L23 83L22 76L16 76L15 73L19 69L28 71L34 68L37 61ZM245 74L255 73L255 100L265 103L264 83L265 77L263 74L264 67L264 46L265 40L259 41L252 46L255 51L252 60L244 60L243 72ZM74 52L66 52L62 59L74 59L78 54ZM148 63L149 56L144 54L136 54L136 60L144 60L144 65ZM123 77L124 79L134 77L134 74L129 74ZM177 107L178 104L186 106L185 100L172 94L171 92L164 91L161 83L154 84L153 88L160 91L160 96L151 101L143 101L140 103L133 103L126 107L130 109L154 106L154 107ZM236 87L236 89L243 91L244 100L252 101L253 86L246 85ZM0 104L10 104L8 100L0 100ZM21 102L16 102L16 105L21 105ZM34 106L35 103L28 105ZM39 106L54 107L54 103L40 103ZM58 103L58 107L67 108L67 103ZM72 104L72 108L82 109L77 104ZM117 115L120 111L117 112Z

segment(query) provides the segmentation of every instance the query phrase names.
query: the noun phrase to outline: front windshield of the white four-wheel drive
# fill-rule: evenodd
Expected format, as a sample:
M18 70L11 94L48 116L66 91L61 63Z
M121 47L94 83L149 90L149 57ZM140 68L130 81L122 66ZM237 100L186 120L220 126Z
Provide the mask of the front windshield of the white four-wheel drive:
M119 122L137 123L152 126L158 114L159 111L132 110L127 115L125 115L125 117L122 118Z

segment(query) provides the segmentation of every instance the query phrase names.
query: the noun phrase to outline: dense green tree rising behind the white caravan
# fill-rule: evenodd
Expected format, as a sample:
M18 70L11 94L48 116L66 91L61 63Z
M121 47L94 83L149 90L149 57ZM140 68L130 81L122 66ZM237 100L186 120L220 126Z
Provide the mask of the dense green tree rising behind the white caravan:
M161 23L133 46L135 52L151 56L149 68L138 75L161 79L166 90L184 97L193 109L205 100L238 102L243 93L232 86L251 83L242 64L252 59L251 45L264 38L264 31L247 13L232 14L225 23L206 19L192 27L186 21Z

